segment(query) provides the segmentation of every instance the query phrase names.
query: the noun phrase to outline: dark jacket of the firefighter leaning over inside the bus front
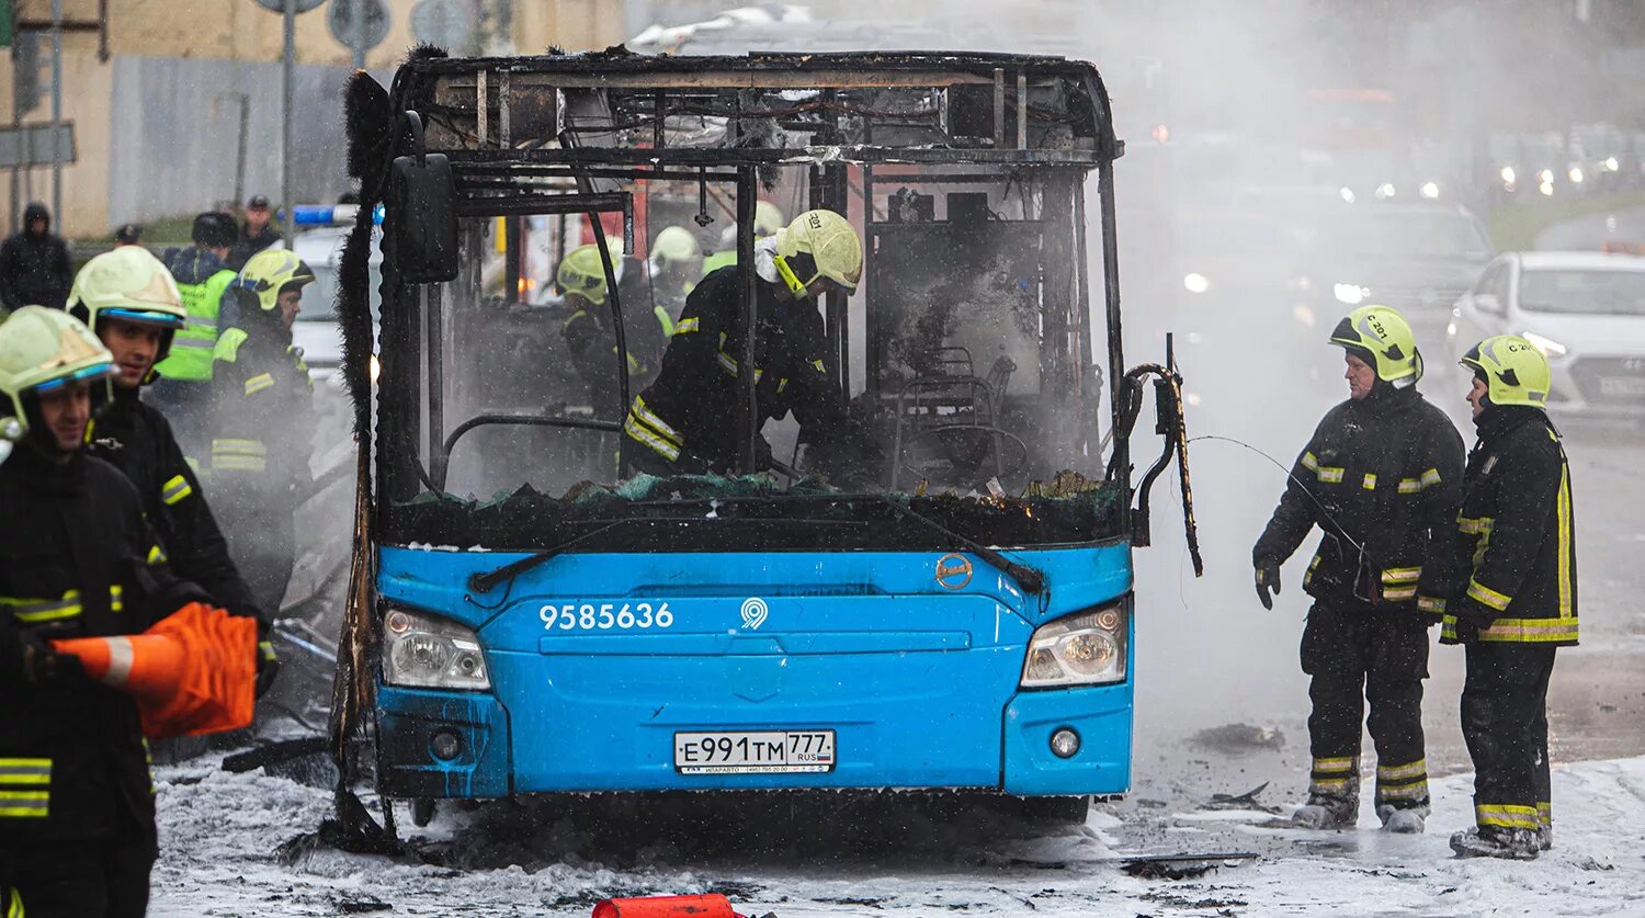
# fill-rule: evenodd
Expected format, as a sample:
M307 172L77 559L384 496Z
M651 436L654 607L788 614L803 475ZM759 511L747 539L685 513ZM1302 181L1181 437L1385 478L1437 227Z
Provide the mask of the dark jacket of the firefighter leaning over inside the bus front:
M846 410L822 362L822 316L809 299L781 301L755 283L755 403L762 420L790 411L809 441L836 439ZM674 322L658 378L633 400L623 431L668 461L699 459L714 471L737 462L737 401L745 327L737 268L702 278Z

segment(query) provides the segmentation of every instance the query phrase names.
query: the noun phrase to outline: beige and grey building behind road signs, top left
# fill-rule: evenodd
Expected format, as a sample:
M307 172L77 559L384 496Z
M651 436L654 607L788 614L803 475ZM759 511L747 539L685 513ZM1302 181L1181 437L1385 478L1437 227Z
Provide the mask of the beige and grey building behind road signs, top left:
M411 21L426 2L380 0L388 33L365 64L385 82L419 39ZM466 26L464 46L454 48L461 53L581 51L623 39L622 0L434 2L447 7L447 28L452 20ZM298 16L298 201L347 191L341 90L354 53L327 26L334 3ZM0 67L0 125L51 117L51 7L0 0L0 16L15 23L13 66ZM61 232L99 237L127 220L192 214L253 192L280 199L278 13L253 0L63 0L63 13L71 23L63 36L63 117L74 123L77 158L63 168ZM18 84L26 86L35 67L36 104L18 114ZM51 168L5 173L13 173L12 181L0 178L12 229L25 202L51 201Z

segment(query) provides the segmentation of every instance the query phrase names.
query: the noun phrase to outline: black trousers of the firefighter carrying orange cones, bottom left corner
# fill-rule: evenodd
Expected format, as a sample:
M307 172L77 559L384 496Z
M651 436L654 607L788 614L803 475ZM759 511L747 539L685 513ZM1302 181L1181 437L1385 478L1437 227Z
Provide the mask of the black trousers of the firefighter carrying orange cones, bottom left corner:
M112 839L30 842L0 847L21 915L28 918L141 918L155 842ZM10 915L0 902L0 915Z

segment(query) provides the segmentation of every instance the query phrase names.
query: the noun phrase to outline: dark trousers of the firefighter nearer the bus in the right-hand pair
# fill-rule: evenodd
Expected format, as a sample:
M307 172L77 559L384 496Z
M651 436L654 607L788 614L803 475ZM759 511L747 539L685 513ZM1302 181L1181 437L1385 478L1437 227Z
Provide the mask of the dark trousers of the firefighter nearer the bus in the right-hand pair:
M1308 739L1313 755L1309 798L1359 796L1362 724L1377 747L1377 804L1428 806L1423 752L1423 679L1428 625L1410 614L1370 605L1316 602L1303 628ZM1370 719L1365 721L1365 702Z

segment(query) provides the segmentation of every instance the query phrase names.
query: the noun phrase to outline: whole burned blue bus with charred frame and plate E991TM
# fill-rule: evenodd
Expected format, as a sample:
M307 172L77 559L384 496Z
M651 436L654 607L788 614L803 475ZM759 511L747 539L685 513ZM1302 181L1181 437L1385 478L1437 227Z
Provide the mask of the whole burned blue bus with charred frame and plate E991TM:
M349 110L385 220L375 387L345 319L362 451L334 727L372 732L385 796L426 819L441 798L969 788L1076 814L1128 790L1132 549L1186 454L1175 369L1124 364L1122 145L1091 64L424 51L388 90L357 76ZM646 270L637 212L661 189L704 235L735 227L740 444L712 474L619 457L658 321L619 275ZM855 291L796 304L860 439L849 475L758 405L762 201L862 242ZM523 294L553 283L526 276L533 232L600 252L599 385L571 308ZM1150 375L1165 443L1133 487Z

